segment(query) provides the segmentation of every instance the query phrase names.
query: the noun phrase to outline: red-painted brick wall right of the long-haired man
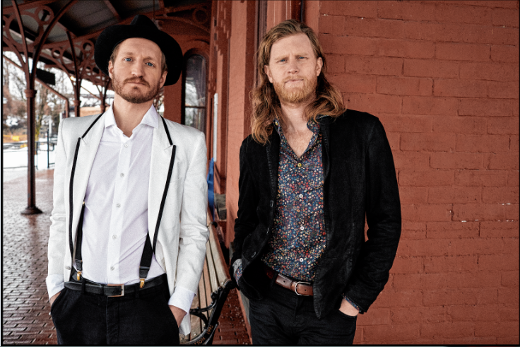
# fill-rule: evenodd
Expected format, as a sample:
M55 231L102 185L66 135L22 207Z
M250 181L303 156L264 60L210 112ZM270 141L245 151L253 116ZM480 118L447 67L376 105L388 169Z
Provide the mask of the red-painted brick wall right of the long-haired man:
M519 343L519 2L320 1L319 37L348 107L384 124L401 192L355 343Z

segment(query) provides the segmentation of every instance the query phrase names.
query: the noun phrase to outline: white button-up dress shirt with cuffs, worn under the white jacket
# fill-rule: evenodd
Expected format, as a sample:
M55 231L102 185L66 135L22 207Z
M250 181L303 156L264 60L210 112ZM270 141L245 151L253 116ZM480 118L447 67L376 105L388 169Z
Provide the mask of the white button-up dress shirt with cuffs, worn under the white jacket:
M105 129L85 193L82 275L97 283L128 285L139 282L139 264L148 233L153 129L160 119L151 106L128 137L117 127L112 107L104 118ZM165 271L153 255L147 279L161 274ZM49 297L63 288L63 276L47 276ZM189 312L194 295L177 286L168 304Z

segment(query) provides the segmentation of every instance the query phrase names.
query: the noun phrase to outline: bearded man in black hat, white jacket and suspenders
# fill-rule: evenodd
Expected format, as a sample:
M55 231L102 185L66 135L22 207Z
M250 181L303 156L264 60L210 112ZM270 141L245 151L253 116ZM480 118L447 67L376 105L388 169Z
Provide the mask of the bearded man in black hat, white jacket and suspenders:
M47 290L60 344L179 344L203 269L206 141L153 107L182 71L146 16L105 29L102 115L64 119L54 169Z

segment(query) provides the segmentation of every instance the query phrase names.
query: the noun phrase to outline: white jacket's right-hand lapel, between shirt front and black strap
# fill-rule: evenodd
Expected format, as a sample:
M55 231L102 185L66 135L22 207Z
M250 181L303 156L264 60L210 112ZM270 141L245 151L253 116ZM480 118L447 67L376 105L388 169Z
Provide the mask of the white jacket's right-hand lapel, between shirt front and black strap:
M162 194L165 190L168 168L172 159L173 146L168 141L165 126L159 119L153 129L152 158L150 160L150 182L148 184L148 234L153 242Z

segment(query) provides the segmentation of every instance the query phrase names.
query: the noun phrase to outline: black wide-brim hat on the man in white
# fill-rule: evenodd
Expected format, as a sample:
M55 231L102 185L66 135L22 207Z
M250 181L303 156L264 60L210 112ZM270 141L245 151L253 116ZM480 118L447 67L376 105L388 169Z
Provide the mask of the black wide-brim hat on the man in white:
M175 84L182 71L182 50L177 41L164 31L159 30L153 21L141 14L134 17L130 25L112 25L102 31L95 42L94 59L105 75L108 75L108 61L114 47L130 38L143 38L155 42L165 54L168 73L165 86Z

